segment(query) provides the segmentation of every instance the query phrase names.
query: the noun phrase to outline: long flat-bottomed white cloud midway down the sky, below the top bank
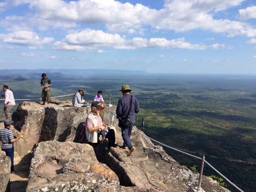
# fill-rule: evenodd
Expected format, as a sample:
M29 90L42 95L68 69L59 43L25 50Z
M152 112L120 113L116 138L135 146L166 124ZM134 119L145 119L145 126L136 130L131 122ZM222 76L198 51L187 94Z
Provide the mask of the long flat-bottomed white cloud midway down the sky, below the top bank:
M185 38L141 38L134 37L125 39L118 34L105 33L102 30L85 29L79 33L69 34L62 41L53 44L53 50L57 51L91 51L99 47L113 47L114 49L135 50L150 47L160 47L163 49L187 49L205 50L204 44L190 44ZM215 48L215 49L218 49Z

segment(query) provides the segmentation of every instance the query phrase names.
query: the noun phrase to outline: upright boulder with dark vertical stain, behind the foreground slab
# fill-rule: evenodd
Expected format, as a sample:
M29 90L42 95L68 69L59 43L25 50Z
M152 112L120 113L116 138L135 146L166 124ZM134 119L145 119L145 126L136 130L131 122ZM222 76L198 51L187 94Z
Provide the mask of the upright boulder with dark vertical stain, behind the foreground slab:
M84 122L90 107L72 107L70 101L42 106L38 102L21 102L13 113L14 135L23 138L14 143L20 157L25 156L37 142L73 141L76 129Z

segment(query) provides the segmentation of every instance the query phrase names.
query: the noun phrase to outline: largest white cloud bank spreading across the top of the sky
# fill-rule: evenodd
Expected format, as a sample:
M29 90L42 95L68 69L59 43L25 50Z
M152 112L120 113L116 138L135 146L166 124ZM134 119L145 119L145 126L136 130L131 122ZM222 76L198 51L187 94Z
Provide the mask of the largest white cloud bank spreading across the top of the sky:
M227 36L256 36L256 29L247 23L228 19L213 19L214 13L241 4L244 0L165 0L161 10L147 6L121 3L114 0L61 1L37 0L30 2L30 9L36 11L36 18L44 22L74 22L90 25L105 25L111 31L126 31L143 34L147 26L156 30L176 32L193 29L225 33ZM60 26L62 25L60 23ZM41 22L37 22L40 25ZM47 25L42 25L43 26ZM54 27L54 25L52 25Z

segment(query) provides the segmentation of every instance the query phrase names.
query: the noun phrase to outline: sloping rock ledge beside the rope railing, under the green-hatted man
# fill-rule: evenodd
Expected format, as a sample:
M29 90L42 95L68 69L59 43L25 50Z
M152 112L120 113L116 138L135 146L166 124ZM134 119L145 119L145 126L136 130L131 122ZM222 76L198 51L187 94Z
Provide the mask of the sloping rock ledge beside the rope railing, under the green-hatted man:
M116 130L119 137L121 130ZM116 147L110 148L105 158L105 163L117 173L121 185L159 191L187 191L198 185L199 174L182 167L161 146L154 146L136 127L133 127L131 141L137 149L132 156L127 156L129 150ZM202 188L206 192L229 191L204 176Z

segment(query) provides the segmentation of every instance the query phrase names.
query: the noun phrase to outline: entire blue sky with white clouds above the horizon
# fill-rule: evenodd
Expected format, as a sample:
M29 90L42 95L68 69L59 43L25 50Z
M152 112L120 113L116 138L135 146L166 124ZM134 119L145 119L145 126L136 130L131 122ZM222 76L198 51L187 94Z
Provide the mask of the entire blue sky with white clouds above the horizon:
M256 74L256 2L0 1L0 67Z

